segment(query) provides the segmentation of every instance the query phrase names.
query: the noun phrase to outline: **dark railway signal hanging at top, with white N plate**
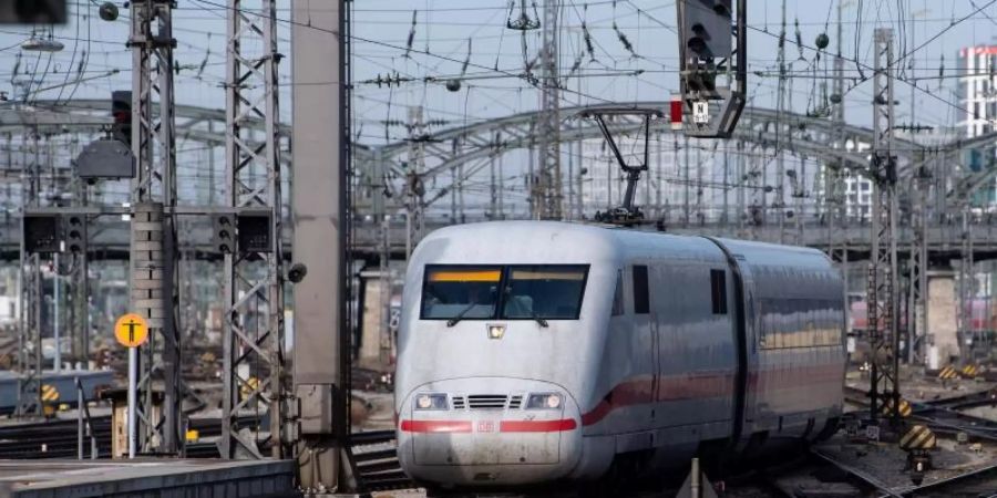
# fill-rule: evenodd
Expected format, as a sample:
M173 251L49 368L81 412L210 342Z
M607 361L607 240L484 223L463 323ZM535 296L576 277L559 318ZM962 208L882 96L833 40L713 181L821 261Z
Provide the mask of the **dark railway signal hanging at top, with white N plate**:
M679 87L687 136L728 138L744 110L748 91L747 0L682 0ZM737 23L732 20L737 17ZM737 40L737 45L733 41Z

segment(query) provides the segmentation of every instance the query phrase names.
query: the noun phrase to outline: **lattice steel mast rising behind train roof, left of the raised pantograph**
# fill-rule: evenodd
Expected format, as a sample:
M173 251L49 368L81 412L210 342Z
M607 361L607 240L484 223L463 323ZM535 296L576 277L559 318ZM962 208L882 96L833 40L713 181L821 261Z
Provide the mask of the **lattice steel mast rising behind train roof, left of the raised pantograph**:
M537 168L531 178L533 217L561 219L564 191L561 178L561 79L558 75L558 24L561 0L544 2L541 46L541 102L537 122Z

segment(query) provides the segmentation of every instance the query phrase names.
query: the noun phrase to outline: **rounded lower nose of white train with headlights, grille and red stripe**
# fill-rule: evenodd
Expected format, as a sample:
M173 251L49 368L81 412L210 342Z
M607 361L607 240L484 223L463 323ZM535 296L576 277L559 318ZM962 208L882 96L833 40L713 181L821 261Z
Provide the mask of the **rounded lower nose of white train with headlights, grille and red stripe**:
M402 468L449 486L522 485L564 477L577 464L580 415L561 386L502 377L424 384L400 405Z

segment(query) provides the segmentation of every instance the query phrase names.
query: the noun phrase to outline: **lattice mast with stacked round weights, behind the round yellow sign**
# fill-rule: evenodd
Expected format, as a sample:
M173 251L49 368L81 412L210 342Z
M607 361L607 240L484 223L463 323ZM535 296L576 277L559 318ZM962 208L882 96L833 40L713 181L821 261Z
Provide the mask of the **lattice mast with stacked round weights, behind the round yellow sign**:
M131 311L150 328L138 377L140 450L177 453L183 444L181 344L176 323L176 131L173 91L173 2L131 4L132 243ZM153 110L158 106L158 112ZM162 384L160 384L162 382ZM162 402L155 393L162 385ZM154 405L160 405L154 408Z

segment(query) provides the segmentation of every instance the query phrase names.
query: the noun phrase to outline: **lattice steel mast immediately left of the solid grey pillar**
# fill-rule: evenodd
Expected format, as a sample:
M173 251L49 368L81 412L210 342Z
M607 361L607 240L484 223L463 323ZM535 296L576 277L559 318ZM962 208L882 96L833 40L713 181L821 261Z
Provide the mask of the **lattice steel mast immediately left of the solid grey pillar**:
M236 218L266 219L268 243L236 243L225 255L222 457L282 458L289 386L285 372L282 197L278 108L276 0L229 0L226 80L226 207ZM263 120L265 136L251 141L248 124ZM241 225L241 224L239 224ZM248 227L238 226L240 230ZM245 240L241 235L236 237ZM253 422L240 424L241 417ZM264 427L264 421L269 426ZM240 432L240 427L248 430Z

